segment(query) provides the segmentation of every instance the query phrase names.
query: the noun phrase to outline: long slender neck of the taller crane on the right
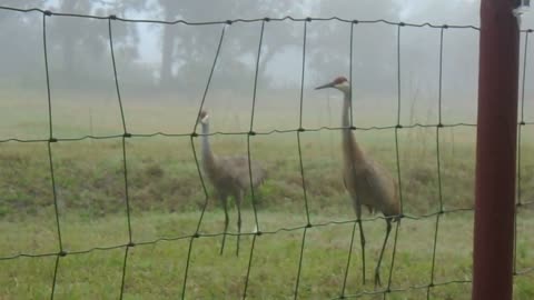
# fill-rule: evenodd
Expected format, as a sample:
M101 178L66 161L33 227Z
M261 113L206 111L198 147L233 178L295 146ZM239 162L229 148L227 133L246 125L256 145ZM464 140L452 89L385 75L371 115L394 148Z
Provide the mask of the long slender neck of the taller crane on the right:
M356 138L350 129L350 91L344 91L343 114L342 114L342 134L343 134L343 153L346 163L353 164L357 169L364 162L364 153L356 142Z

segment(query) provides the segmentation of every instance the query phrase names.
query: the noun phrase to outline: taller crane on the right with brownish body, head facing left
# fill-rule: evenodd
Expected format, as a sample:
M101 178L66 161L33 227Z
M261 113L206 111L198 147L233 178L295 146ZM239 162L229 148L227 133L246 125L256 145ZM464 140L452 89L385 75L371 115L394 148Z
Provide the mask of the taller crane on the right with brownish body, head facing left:
M345 77L338 77L334 81L317 87L316 90L334 88L344 93L342 114L343 136L343 181L348 193L353 198L353 206L359 226L362 240L362 254L364 260L365 282L365 237L362 228L362 206L368 208L369 212L380 211L386 217L386 237L382 246L378 263L375 269L375 287L380 284L379 268L387 238L392 231L392 221L399 220L400 203L397 186L389 172L379 163L365 154L350 131L349 110L352 104L350 84Z

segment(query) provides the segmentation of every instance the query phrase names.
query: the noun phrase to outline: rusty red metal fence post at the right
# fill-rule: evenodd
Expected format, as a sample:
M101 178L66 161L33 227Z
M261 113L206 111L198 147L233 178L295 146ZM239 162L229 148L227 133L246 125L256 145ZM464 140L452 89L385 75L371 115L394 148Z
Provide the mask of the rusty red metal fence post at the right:
M512 299L520 31L514 0L481 1L473 299Z

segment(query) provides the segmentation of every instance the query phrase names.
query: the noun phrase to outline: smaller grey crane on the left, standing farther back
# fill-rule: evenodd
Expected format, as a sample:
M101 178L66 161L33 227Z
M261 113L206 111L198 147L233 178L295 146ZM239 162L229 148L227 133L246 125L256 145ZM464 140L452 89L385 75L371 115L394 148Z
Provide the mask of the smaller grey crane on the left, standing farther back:
M225 234L220 254L225 248L226 233L228 230L228 197L234 197L237 207L237 249L239 254L239 234L241 233L241 201L245 192L250 189L250 170L248 156L217 157L209 146L209 116L200 111L198 121L202 127L202 167L216 190L216 197L221 201L225 209ZM253 187L259 187L265 178L266 171L258 163L250 161L253 173Z

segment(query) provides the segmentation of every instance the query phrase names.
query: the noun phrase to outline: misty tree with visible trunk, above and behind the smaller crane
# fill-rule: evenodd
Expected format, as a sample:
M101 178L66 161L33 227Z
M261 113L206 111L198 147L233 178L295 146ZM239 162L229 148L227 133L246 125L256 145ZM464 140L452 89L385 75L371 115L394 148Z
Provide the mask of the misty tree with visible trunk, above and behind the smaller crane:
M165 20L172 21L176 19L185 19L189 21L212 21L226 20L233 18L247 18L247 16L283 16L289 8L296 6L290 1L214 1L209 9L206 9L206 3L202 1L171 1L159 0L160 14ZM248 17L250 18L250 17ZM258 23L259 24L259 23ZM233 39L231 42L225 43L225 51L230 51L233 62L227 62L234 70L237 68L254 68L255 63L244 63L244 58L256 57L257 44L259 39L259 31L253 26L247 26L247 29L236 29L236 26L230 30L241 30L243 33L239 39ZM172 82L179 79L181 86L191 87L195 84L194 78L187 76L185 71L200 71L205 66L206 60L211 61L217 40L218 30L215 27L195 27L185 28L184 26L165 26L161 38L161 67L160 67L160 83L162 87L176 87ZM271 28L267 24L267 31ZM209 30L206 30L209 29ZM239 31L239 32L241 32ZM296 32L269 32L276 34L278 39L270 39L264 43L261 49L260 60L260 76L265 77L267 64L277 53L291 44L297 44L299 41L294 39ZM174 74L172 70L178 70ZM198 72L195 72L198 74ZM231 81L231 74L226 78Z

